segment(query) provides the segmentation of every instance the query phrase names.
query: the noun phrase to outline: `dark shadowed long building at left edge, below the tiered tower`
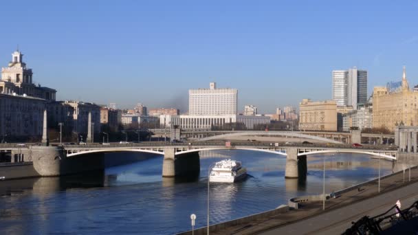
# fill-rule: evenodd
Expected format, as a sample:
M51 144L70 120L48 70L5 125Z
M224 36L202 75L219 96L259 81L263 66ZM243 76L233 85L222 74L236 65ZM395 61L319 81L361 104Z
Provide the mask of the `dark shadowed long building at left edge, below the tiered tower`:
M0 138L41 137L47 100L0 93Z

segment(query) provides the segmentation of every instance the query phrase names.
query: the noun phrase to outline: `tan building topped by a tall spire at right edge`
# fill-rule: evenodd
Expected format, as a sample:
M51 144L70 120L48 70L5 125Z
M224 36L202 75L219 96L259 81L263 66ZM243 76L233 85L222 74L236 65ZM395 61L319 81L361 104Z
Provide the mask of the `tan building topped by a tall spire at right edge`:
M409 89L405 67L399 91L389 92L387 87L374 87L373 127L386 127L393 131L397 125L417 126L417 91Z

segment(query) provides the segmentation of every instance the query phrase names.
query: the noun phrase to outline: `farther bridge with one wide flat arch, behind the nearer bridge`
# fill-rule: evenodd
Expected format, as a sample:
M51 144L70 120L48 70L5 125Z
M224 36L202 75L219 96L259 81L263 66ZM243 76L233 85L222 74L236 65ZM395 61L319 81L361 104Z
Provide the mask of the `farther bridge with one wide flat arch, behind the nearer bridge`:
M181 130L176 129L173 131L176 136L173 136L169 128L150 129L154 136L164 137L170 136L177 139L192 138L201 139L203 141L209 139L225 139L228 137L236 136L281 136L281 137L294 137L299 139L316 139L313 137L319 137L316 139L320 142L331 143L344 143L353 144L361 143L362 137L368 137L376 140L377 144L388 143L389 139L395 139L395 135L391 134L377 134L377 133L361 133L360 131L353 130L351 132L329 132L329 131L210 131L210 130ZM386 141L385 141L386 140Z

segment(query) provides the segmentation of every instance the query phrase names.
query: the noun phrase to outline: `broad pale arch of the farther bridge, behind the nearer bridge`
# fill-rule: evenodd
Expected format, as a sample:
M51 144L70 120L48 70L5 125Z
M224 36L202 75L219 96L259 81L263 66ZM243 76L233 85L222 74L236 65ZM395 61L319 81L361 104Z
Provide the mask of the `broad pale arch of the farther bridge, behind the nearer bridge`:
M304 139L314 139L314 140L327 142L331 144L342 144L341 142L338 142L333 139L327 139L324 137L318 137L314 135L306 135L306 134L298 133L298 132L285 132L285 131L252 131L252 132L229 133L229 134L223 134L223 135L214 135L214 136L198 139L197 141L208 141L208 140L213 140L213 139L222 139L222 138L237 137L237 136L250 136L250 135L289 136L289 137L304 138Z

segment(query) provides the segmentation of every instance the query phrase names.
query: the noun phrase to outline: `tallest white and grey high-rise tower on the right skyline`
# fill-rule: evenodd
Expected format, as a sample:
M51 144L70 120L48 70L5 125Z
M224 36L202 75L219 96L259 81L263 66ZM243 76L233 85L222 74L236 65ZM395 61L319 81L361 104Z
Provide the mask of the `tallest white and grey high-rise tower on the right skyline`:
M332 99L337 106L352 106L367 102L367 71L353 67L332 71Z

